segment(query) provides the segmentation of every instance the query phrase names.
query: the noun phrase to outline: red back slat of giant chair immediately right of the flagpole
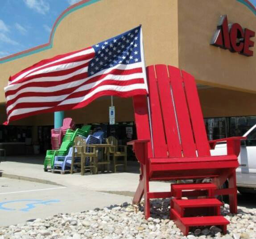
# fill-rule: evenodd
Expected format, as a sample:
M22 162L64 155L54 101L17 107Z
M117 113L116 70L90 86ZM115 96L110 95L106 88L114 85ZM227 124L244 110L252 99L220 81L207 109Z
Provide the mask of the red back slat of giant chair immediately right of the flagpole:
M165 142L165 131L162 121L160 100L157 90L157 79L154 66L148 67L149 79L149 102L151 110L152 134L153 134L153 154L154 157L167 157L167 145Z

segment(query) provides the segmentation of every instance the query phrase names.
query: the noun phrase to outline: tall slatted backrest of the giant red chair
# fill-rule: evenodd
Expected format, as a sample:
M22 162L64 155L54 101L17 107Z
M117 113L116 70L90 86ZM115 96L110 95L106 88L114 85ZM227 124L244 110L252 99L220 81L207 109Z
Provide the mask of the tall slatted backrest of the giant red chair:
M194 77L166 65L147 67L146 96L134 96L138 139L151 139L149 157L210 156ZM152 133L152 137L151 137Z

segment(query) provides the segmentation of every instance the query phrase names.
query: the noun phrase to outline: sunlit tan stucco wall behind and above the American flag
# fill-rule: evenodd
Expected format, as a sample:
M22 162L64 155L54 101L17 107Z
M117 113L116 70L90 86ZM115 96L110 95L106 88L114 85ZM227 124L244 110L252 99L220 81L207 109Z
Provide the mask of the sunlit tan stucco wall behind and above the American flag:
M142 24L146 65L178 66L178 0L101 0L67 15L53 48L0 64L0 103L8 78L39 60L89 47Z

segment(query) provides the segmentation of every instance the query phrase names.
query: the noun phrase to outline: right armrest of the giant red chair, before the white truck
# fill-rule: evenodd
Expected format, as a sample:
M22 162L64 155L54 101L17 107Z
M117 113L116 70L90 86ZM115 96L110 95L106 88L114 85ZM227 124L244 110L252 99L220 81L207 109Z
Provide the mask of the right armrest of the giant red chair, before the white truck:
M231 155L234 154L236 156L240 153L240 142L241 140L246 140L246 137L230 137L224 139L215 139L210 140L209 144L211 149L215 149L217 143L227 143L227 154Z

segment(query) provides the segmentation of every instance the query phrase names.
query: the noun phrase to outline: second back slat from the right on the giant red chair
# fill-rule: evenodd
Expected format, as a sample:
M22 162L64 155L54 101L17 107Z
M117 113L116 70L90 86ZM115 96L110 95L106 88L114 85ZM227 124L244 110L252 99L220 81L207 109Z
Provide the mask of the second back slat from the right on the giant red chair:
M187 108L181 72L178 68L171 66L168 66L168 69L178 119L183 155L186 157L193 157L196 156L196 147L190 124L190 115Z

